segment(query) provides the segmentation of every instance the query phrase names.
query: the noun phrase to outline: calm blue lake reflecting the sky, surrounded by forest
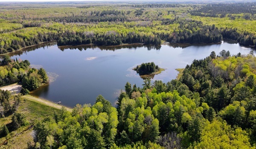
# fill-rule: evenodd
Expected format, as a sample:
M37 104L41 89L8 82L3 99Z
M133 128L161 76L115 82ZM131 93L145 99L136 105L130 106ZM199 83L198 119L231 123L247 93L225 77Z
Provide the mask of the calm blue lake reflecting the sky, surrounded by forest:
M166 69L152 79L164 83L175 79L177 68L184 68L194 59L203 59L212 51L221 50L232 54L248 54L251 48L238 43L221 44L164 44L161 46L143 46L132 44L125 46L64 46L47 43L12 53L12 59L29 60L33 67L43 67L55 78L31 94L53 102L73 107L77 103L94 104L98 95L116 103L125 83L130 82L142 87L143 79L132 70L135 66L154 62ZM52 75L53 74L53 75ZM58 76L58 77L57 77Z

